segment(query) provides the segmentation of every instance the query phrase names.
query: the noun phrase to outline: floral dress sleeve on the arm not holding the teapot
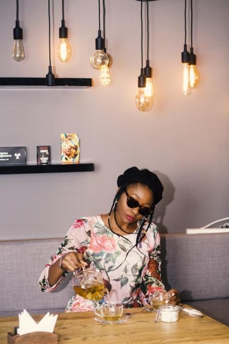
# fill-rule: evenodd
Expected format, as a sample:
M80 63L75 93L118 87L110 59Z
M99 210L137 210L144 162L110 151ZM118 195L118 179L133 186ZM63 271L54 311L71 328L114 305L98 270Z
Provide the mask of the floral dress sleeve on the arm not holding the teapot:
M147 265L146 274L143 277L143 288L141 290L144 294L153 293L156 290L164 289L161 282L161 250L160 250L160 235L157 227L155 228L155 241L152 251L149 253L149 262Z

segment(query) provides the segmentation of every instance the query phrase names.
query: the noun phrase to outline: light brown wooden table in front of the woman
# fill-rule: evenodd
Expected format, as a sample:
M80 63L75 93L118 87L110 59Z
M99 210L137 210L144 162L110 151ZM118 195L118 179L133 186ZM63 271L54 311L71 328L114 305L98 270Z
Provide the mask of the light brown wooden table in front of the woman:
M187 306L189 307L189 306ZM189 307L191 308L191 307ZM195 318L180 312L177 323L155 323L154 313L140 308L125 309L136 313L126 323L103 325L94 320L93 312L60 313L55 326L59 344L225 344L229 328L209 316ZM36 321L42 315L33 315ZM7 344L7 332L18 326L18 317L0 317L0 343ZM48 343L47 343L48 344Z

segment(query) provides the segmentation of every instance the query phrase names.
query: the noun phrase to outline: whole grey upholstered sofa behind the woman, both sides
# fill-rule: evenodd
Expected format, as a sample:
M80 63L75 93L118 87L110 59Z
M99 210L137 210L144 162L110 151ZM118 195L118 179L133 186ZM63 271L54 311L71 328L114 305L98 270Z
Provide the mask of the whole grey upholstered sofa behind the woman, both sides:
M53 292L38 278L62 239L0 242L0 316L63 312L73 294L71 274ZM161 234L162 280L180 291L183 303L229 326L229 233Z

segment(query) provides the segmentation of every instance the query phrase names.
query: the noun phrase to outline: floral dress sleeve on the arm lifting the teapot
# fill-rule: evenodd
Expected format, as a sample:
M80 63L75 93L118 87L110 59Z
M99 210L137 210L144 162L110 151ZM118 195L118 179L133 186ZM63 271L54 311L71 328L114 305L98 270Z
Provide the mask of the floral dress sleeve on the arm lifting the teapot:
M58 282L52 287L48 283L48 271L49 267L61 258L62 255L68 252L84 253L87 250L90 243L90 225L85 218L79 218L74 225L69 229L64 241L61 243L58 251L52 255L45 264L45 268L39 278L39 286L41 291L53 291L67 276L68 271L63 271L63 274Z

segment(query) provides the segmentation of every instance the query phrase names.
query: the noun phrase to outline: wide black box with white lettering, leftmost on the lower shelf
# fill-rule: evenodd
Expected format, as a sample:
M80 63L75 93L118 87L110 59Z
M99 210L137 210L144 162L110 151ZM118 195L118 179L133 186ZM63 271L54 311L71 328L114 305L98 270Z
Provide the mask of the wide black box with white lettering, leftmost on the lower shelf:
M26 148L0 147L0 165L26 165Z

